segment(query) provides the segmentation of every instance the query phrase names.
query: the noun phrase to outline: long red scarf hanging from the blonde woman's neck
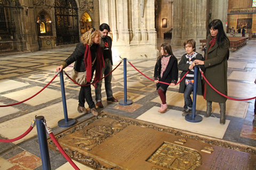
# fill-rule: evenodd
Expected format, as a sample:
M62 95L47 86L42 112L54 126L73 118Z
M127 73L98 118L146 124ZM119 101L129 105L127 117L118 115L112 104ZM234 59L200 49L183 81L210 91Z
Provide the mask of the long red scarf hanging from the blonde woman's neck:
M87 82L91 82L92 79L92 55L91 55L91 50L90 46L85 44L85 53L84 53L84 63L85 63L85 70L86 70L86 79ZM103 54L102 50L100 48L100 45L98 45L97 48L97 55L96 55L96 71L95 71L95 77L93 82L97 82L98 80L101 79L101 70L105 67L104 65L104 60L103 60ZM96 84L94 85L96 87Z

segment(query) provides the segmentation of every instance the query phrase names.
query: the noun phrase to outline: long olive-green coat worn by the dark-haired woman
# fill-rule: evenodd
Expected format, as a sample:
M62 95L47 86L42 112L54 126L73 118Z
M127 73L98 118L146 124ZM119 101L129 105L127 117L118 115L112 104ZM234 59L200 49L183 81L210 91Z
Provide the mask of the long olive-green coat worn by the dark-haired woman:
M207 46L204 55L204 76L217 89L221 94L227 96L228 84L227 84L227 70L228 62L227 57L229 56L229 41L225 41L222 48L219 47L217 40L215 45L210 48L211 36L207 37ZM207 60L206 60L207 57ZM205 81L204 81L205 82ZM209 84L206 83L206 98L205 100L213 101L216 103L226 103L227 98L218 94L214 91Z

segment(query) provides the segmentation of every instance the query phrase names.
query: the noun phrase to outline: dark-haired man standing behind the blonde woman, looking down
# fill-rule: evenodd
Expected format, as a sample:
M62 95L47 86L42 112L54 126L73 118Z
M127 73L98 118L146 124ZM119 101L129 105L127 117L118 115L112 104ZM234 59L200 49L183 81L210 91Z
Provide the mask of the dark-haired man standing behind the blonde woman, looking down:
M113 60L112 60L112 39L108 36L110 31L109 25L106 23L102 23L100 25L100 36L101 42L100 46L103 53L105 67L102 69L102 77L103 75L106 76L108 73L112 71ZM105 79L105 90L107 95L107 101L118 102L118 100L113 97L112 87L111 87L111 80L112 80L112 73L110 73ZM97 102L98 107L103 107L101 103L101 85L102 80L97 83L97 87L95 88L95 100Z

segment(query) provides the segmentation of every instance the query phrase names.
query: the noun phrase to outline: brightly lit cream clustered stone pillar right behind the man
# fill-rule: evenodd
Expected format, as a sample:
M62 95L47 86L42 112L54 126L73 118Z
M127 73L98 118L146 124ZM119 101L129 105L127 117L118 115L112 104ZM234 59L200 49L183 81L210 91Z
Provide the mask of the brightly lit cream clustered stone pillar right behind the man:
M113 57L156 58L155 2L99 1L100 23L108 23L113 38ZM119 58L118 58L119 60Z

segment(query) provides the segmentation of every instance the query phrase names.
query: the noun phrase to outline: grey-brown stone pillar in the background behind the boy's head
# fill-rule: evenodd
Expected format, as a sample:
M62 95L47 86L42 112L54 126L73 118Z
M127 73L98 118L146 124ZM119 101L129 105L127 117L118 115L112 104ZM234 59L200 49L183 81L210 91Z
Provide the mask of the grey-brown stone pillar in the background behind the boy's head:
M182 46L188 38L196 40L206 38L206 9L205 0L173 1L175 12L173 14L172 45Z

